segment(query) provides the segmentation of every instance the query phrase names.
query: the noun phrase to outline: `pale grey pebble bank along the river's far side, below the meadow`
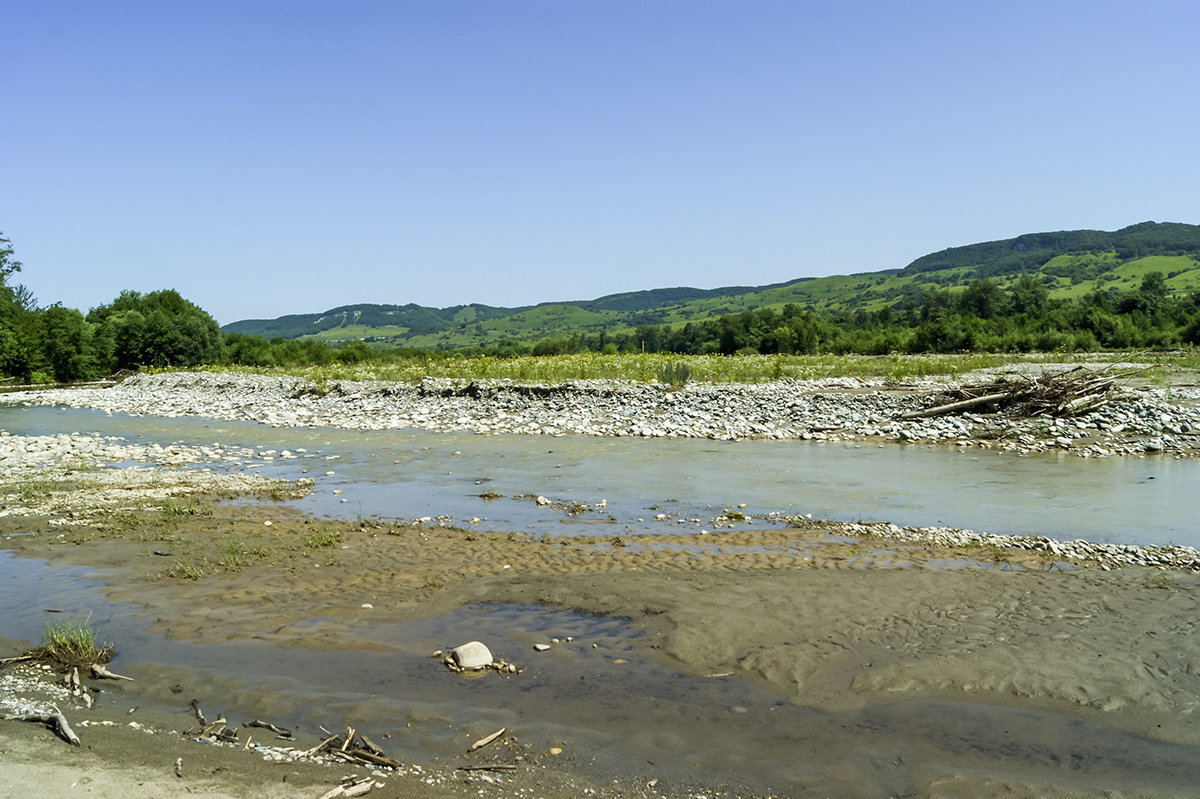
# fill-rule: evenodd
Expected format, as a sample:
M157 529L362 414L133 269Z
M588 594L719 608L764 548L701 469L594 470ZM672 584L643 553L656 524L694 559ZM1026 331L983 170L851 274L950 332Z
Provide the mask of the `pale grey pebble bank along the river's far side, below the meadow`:
M964 376L964 383L972 376ZM982 376L973 376L976 378ZM413 427L476 433L934 441L1082 457L1200 452L1200 389L1126 388L1102 409L1066 419L961 413L905 419L948 383L858 378L754 385L665 386L616 380L529 385L425 379L313 383L233 373L138 374L107 389L0 396L0 403L65 404L109 413L196 415L277 427Z

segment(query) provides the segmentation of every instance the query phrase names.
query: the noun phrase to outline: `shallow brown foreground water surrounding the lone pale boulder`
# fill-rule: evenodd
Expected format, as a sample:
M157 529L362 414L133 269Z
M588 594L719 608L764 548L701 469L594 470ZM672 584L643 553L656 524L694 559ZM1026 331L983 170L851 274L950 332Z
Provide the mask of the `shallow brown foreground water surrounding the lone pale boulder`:
M318 725L353 725L401 761L456 763L470 740L508 727L535 752L563 746L571 768L596 780L640 776L785 795L902 795L938 770L1076 787L1094 781L1097 789L1111 787L1108 779L1200 781L1195 747L1052 713L944 699L822 713L740 680L684 675L640 657L623 619L485 605L403 624L365 614L353 630L373 649L196 645L146 633L146 617L103 601L85 573L0 552L0 605L12 611L4 633L36 637L44 620L90 618L120 642L113 668L137 678L142 713L174 714L180 728L193 723L187 703L194 698L209 717L224 714L234 725L268 719L298 728L301 740L313 739ZM574 641L533 650L568 636ZM428 656L473 638L526 672L464 679ZM114 701L102 695L101 702Z

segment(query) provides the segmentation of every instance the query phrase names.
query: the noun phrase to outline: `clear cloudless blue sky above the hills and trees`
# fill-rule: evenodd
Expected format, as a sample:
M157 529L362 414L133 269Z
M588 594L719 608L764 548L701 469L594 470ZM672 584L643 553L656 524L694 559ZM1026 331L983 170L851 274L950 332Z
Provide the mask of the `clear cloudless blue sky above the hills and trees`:
M41 305L222 324L1200 222L1194 0L0 0Z

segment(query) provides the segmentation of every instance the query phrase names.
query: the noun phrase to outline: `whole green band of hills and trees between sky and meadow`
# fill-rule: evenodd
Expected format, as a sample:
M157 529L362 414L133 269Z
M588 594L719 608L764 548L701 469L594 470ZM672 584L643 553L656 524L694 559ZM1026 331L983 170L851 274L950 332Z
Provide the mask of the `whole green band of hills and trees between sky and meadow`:
M223 330L172 289L86 313L38 307L0 238L0 373L78 382L140 367L288 366L460 353L1049 352L1200 344L1200 227L1145 222L955 247L900 270L666 288L521 308L355 305ZM258 331L258 332L256 332ZM263 335L266 334L266 335Z

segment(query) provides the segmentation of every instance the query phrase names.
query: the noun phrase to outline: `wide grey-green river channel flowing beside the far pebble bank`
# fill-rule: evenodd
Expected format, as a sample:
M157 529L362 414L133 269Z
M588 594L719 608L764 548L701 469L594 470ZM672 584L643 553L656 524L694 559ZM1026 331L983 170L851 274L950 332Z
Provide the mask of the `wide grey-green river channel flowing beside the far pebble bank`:
M253 459L235 468L316 479L317 491L296 503L316 515L444 515L457 523L480 518L493 529L588 535L673 530L680 517L698 524L678 528L696 529L710 525L722 509L745 504L754 513L1200 546L1200 525L1187 506L1200 485L1200 459L1022 457L931 445L272 428L71 408L0 408L0 428L306 449L307 457L294 461ZM485 491L502 498L481 499ZM535 495L559 504L605 499L607 507L570 516L562 507L536 506ZM652 521L660 512L671 517L667 523Z

